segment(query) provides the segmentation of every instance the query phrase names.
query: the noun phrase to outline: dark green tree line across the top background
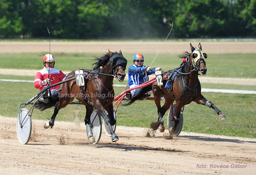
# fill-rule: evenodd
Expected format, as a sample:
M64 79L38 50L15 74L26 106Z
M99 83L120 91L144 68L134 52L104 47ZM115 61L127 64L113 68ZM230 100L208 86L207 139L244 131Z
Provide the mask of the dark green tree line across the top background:
M0 0L0 38L255 37L256 0ZM166 19L170 18L172 19Z

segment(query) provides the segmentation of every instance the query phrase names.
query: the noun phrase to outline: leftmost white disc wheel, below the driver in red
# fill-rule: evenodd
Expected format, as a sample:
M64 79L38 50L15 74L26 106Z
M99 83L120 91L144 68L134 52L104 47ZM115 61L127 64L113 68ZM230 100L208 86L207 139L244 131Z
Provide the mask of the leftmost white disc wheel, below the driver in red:
M22 108L17 117L16 132L19 142L27 144L32 130L31 116L26 108Z

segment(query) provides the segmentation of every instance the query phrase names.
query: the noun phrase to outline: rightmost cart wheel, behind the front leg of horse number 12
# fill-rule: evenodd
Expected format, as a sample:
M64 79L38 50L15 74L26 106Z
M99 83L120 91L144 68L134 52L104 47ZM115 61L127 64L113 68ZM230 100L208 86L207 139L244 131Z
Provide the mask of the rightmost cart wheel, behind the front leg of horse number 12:
M174 126L174 120L175 120L174 116L176 116L175 106L176 104L173 104L172 110L170 109L168 113L168 129ZM181 132L182 126L183 126L183 113L182 111L180 111L180 122L176 127L175 133L172 136L177 137Z

